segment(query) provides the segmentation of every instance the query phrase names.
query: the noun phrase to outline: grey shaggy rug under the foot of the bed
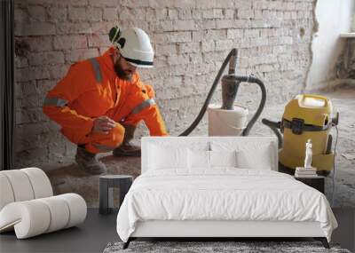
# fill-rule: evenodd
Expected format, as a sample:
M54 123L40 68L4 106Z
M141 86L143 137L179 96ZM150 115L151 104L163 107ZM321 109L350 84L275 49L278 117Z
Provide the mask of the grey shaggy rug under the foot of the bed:
M108 243L103 253L118 252L334 252L351 253L338 245L330 244L331 249L323 248L319 241L131 241L128 249L122 249L122 242Z

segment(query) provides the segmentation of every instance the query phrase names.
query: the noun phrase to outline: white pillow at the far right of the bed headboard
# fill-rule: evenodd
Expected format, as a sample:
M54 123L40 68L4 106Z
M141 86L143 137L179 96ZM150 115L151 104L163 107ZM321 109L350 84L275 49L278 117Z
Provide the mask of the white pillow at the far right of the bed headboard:
M272 170L271 145L257 146L253 150L237 151L237 166L241 169Z

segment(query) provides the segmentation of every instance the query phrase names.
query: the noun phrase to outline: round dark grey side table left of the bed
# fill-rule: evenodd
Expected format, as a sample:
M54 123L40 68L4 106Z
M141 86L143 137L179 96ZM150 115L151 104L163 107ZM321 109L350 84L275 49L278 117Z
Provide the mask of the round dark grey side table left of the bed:
M104 175L99 177L99 213L109 214L114 207L113 188L120 189L121 207L124 196L130 190L133 177L129 175Z

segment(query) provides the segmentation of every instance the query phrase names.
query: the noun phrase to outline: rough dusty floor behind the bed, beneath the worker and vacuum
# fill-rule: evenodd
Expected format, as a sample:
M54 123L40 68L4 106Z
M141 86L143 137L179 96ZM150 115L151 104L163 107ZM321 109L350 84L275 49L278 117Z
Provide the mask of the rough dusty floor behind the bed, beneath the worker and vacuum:
M319 92L332 100L335 111L340 114L339 139L336 148L335 173L335 207L355 207L355 87L343 86L335 91ZM285 105L266 107L262 117L279 121ZM251 132L256 135L272 135L261 123L257 123ZM195 133L195 135L204 133ZM137 177L140 172L140 158L115 158L107 155L102 158L106 163L109 174L130 174ZM60 164L44 164L40 166L46 170L51 178L55 194L74 192L83 195L90 207L99 204L98 188L99 176L90 176L80 171L73 163L73 158ZM332 203L332 176L326 179L326 195Z

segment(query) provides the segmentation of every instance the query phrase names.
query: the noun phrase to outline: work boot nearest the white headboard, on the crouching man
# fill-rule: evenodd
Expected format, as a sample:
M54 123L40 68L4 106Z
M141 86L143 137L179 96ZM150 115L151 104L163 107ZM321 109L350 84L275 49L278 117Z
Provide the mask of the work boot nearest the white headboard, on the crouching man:
M114 156L135 156L140 157L140 146L136 146L130 143L134 137L134 132L136 126L134 125L123 125L124 137L121 146L114 148Z

